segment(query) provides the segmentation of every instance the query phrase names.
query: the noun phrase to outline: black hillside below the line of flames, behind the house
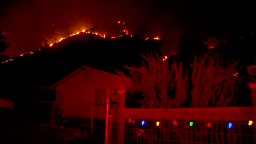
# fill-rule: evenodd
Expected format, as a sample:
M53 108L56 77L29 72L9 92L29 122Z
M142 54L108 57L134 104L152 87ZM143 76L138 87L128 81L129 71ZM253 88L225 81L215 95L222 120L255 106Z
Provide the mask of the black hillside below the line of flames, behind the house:
M139 37L104 39L82 33L66 38L53 46L41 47L33 54L2 63L1 97L8 99L49 100L48 87L82 65L114 73L124 65L139 65L140 53L157 51L162 42ZM48 95L48 96L47 96Z

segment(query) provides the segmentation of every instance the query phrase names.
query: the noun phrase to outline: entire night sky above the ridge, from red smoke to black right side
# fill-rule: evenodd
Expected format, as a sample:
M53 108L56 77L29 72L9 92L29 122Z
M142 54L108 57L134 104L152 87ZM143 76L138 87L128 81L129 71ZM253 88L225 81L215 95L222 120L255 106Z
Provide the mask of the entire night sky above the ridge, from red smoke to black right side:
M97 23L100 33L121 34L128 29L132 34L154 38L165 43L165 52L174 52L175 44L184 33L192 36L225 38L226 35L251 31L254 26L251 2L226 1L151 1L151 0L22 0L22 2L62 15ZM125 22L120 25L117 22ZM102 27L104 26L104 27ZM0 27L10 47L37 50L39 46L53 43L60 35L70 35L83 28L94 27L86 22L70 19L31 7L14 0L0 4ZM107 27L107 28L106 28ZM60 34L60 35L57 35ZM50 38L53 37L53 38ZM8 48L7 55L17 55L22 50Z

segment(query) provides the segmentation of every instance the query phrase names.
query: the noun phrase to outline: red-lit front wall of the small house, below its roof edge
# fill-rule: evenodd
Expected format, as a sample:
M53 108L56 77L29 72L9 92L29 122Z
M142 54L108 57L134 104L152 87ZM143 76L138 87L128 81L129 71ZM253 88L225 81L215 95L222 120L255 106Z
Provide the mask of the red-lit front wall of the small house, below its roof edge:
M56 91L63 91L62 117L91 118L95 91L105 88L124 89L124 86L120 77L89 68L61 82L56 86ZM104 113L105 106L94 105L95 118L104 118Z

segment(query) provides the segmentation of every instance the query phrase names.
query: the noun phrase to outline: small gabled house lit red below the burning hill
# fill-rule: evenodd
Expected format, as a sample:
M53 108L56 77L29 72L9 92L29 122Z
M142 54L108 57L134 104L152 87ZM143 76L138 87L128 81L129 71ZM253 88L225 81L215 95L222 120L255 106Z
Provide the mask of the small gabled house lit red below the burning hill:
M106 89L125 89L122 77L83 66L50 89L56 91L56 106L62 117L98 118L106 116Z

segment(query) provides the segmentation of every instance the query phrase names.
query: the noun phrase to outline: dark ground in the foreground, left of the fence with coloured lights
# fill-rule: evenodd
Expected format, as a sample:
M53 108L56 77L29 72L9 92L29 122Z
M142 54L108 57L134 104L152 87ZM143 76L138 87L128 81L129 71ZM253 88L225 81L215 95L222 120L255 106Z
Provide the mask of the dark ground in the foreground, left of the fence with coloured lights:
M62 118L54 125L49 121L26 118L0 119L1 144L62 144L104 142L104 121L95 120L94 133L90 134L90 120Z

